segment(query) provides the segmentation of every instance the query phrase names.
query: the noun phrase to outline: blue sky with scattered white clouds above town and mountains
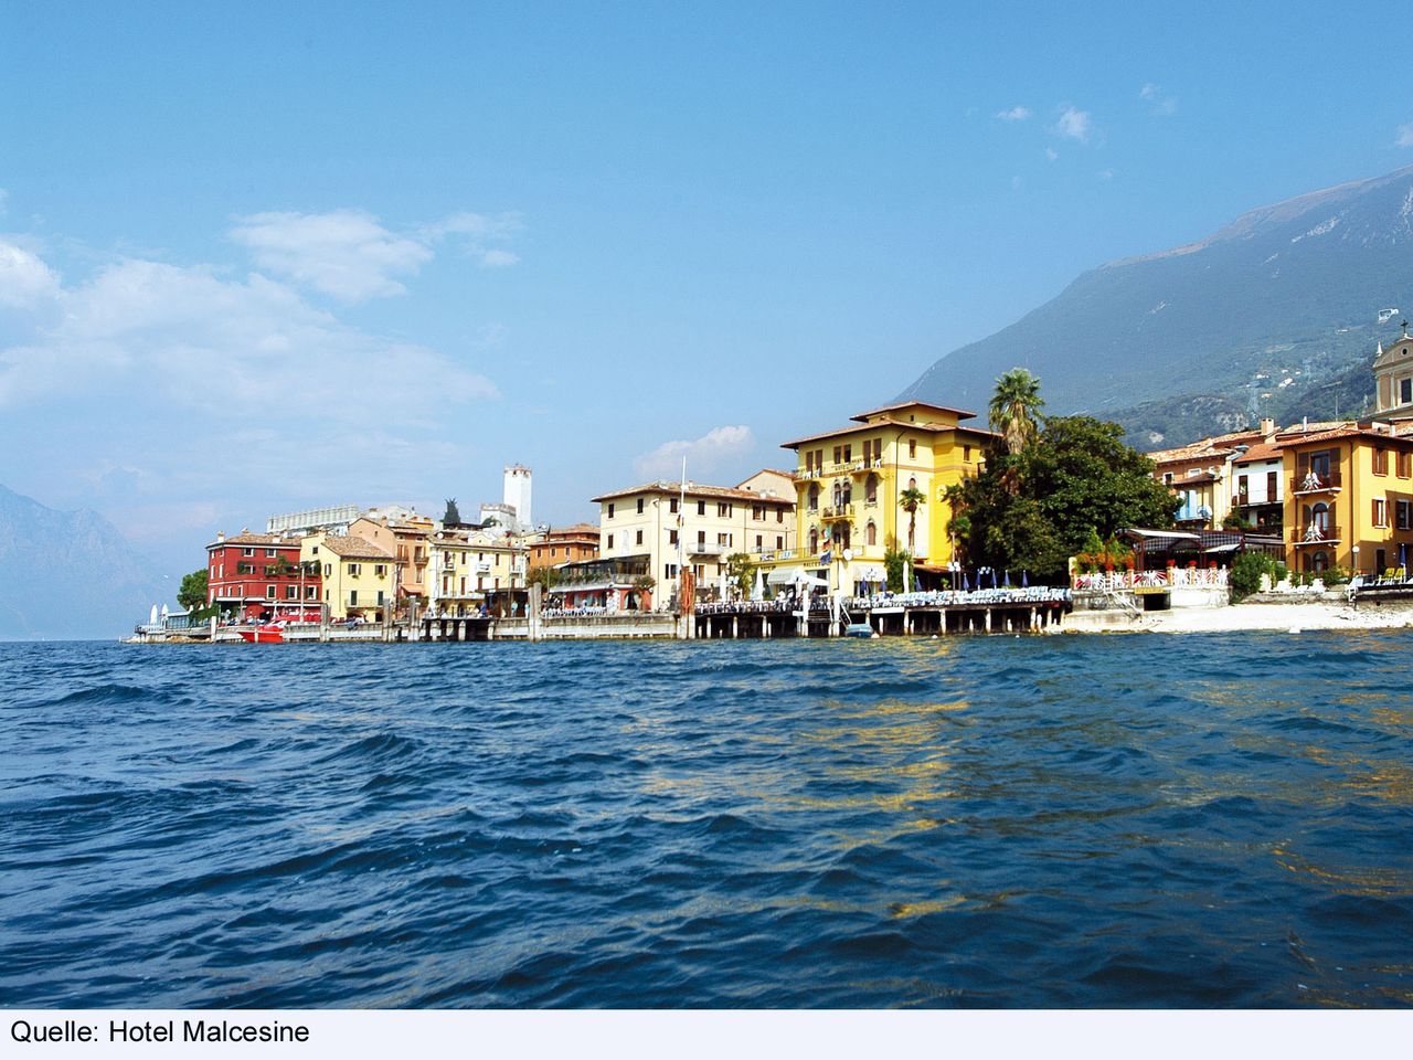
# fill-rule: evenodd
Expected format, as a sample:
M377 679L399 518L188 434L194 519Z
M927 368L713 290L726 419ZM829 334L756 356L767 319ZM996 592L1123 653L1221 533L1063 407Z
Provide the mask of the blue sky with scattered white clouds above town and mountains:
M227 7L0 13L0 483L177 570L506 462L537 522L738 481L1085 269L1413 163L1397 6Z

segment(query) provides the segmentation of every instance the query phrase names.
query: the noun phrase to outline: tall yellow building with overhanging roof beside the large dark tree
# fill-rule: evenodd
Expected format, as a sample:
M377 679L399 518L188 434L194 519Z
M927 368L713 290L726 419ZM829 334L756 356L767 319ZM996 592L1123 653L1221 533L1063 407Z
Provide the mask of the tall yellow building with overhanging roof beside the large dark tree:
M800 523L796 568L825 578L831 589L861 595L886 581L890 544L913 554L914 570L937 584L954 555L948 486L975 476L991 431L962 427L975 413L901 401L859 413L853 425L784 442L794 449ZM916 510L903 495L917 489ZM788 577L777 563L773 582Z

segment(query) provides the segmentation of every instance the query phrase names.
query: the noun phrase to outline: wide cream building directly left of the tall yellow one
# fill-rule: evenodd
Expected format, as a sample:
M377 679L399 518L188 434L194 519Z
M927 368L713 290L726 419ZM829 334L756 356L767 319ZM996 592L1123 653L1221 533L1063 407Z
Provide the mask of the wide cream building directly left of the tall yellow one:
M796 547L794 483L779 471L756 472L738 486L647 482L593 503L599 558L643 563L658 606L670 606L678 564L695 575L701 599L719 592L733 553L770 561Z

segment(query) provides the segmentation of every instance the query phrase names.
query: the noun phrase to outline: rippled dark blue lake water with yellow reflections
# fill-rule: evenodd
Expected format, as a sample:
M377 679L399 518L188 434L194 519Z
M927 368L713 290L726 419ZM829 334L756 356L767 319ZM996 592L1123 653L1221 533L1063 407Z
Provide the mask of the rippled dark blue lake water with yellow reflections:
M0 1003L1406 1006L1409 647L0 644Z

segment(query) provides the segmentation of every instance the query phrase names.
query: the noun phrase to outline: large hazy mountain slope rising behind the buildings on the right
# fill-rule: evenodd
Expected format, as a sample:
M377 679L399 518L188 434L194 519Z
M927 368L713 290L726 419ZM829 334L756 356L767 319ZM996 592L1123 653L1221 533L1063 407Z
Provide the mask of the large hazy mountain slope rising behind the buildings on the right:
M901 396L983 408L996 376L1023 366L1050 411L1119 420L1142 442L1323 416L1337 399L1356 414L1373 391L1375 342L1397 334L1397 318L1381 326L1378 314L1403 305L1410 280L1413 167L1088 271Z

